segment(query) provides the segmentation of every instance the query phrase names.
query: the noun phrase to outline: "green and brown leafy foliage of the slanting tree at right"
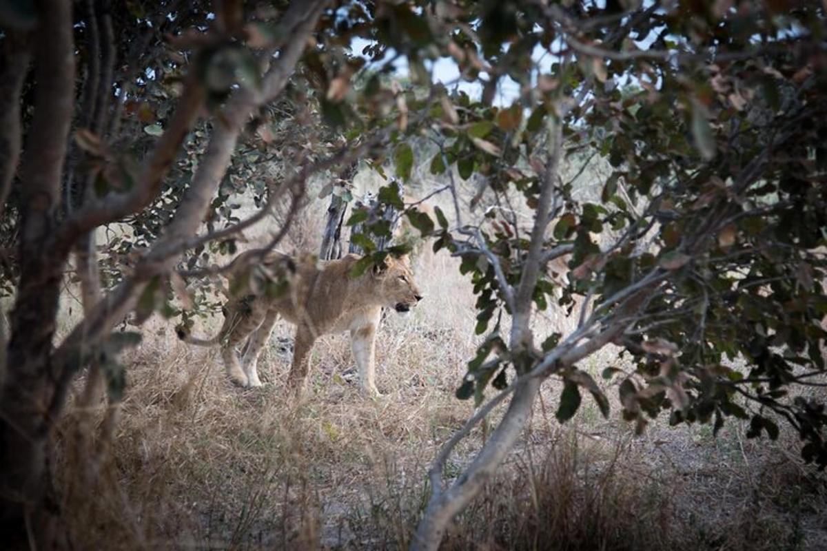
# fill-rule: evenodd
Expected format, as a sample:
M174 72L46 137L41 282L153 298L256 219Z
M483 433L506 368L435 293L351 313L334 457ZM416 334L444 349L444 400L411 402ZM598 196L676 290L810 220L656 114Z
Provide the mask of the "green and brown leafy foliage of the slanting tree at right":
M559 283L543 274L533 302L571 311L586 301L586 321L622 322L614 341L634 370L607 375L619 381L624 418L643 430L648 417L671 411L672 423L710 422L717 432L734 417L749 421L749 436L772 439L782 419L801 436L805 460L827 466L825 406L807 390L823 385L825 373L824 8L441 7L377 15L388 19L379 17L380 45L406 53L412 81L428 87L406 94L408 126L400 131L438 145L432 173L481 178L493 202L517 195L536 209L558 126L563 154L596 151L614 169L597 201L576 199L571 183L554 185L556 221L543 250L571 245L570 283L557 301ZM466 32L467 21L479 22L476 33ZM383 36L386 27L401 32ZM463 79L480 83L479 99L428 85L433 75L422 57L437 59L436 50L451 56ZM540 63L538 50L552 63ZM495 104L506 78L523 92ZM401 132L398 139L389 151L404 176L412 150ZM477 332L485 333L509 312L503 287L523 278L528 231L505 210L489 211L477 227L463 225L462 216L424 230L435 250L461 257L478 296ZM631 315L620 299L644 288ZM528 372L554 349L550 342L509 350L499 335L498 321L458 397L480 403L492 381L504 386L505 373ZM746 368L737 367L742 362ZM587 374L559 374L566 382L560 420L576 411L579 388L608 413Z

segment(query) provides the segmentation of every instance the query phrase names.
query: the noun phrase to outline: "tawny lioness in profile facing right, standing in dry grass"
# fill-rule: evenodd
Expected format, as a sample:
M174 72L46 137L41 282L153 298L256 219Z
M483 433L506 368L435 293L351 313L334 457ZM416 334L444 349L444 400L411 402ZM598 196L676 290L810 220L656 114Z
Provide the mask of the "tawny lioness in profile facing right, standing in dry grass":
M289 266L288 291L275 298L256 295L231 298L222 309L225 319L218 335L201 340L179 330L179 338L206 346L221 343L230 380L241 387L260 387L256 363L281 315L296 325L289 386L300 394L307 379L313 342L320 335L350 331L360 386L370 395L378 396L374 351L382 306L407 312L422 300L407 261L389 256L383 265L366 270L357 278L348 276L360 259L355 254L339 260L315 262L308 257L296 262L284 254L267 253L262 258L260 250L250 250L240 254L232 265L243 268L255 263L256 257L260 257L265 266ZM231 266L230 278L232 271ZM239 362L236 347L248 337Z

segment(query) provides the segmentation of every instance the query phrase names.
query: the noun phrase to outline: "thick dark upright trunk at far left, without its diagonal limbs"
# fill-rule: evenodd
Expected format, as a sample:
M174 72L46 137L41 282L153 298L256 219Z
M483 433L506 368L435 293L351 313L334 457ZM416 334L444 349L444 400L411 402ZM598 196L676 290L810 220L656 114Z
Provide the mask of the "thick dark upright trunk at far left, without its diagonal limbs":
M71 2L36 2L35 115L22 164L20 283L0 394L0 532L5 549L53 546L46 495L52 338L65 255L49 254L74 107Z

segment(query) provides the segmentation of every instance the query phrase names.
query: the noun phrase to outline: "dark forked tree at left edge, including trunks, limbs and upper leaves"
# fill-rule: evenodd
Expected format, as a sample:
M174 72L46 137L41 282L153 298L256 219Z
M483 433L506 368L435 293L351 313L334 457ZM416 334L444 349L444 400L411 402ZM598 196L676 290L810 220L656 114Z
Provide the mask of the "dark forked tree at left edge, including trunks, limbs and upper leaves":
M158 12L152 14L160 16L156 23L167 15L178 16L179 8L173 3L163 3ZM129 42L135 39L128 32L118 34L124 36L127 43L116 45L113 24L117 17L113 16L125 14L111 12L108 2L87 2L81 27L89 33L84 52L87 70L83 103L86 108L99 105L100 110L98 116L91 116L88 111L79 112L79 123L84 126L74 131L74 140L103 167L97 174L89 171L88 180L80 178L82 182L85 180L80 187L75 185L75 178L65 182L67 151L72 139L69 131L75 114L78 57L71 54L74 51L71 2L35 2L31 12L25 7L19 8L24 13L17 18L11 17L17 15L17 3L3 5L4 28L15 24L21 28L10 31L3 39L7 53L4 70L13 77L11 91L6 93L4 88L2 96L7 101L2 112L12 120L12 124L2 128L2 144L6 148L2 156L4 198L11 181L8 175L15 172L23 126L15 120L15 110L7 107L20 101L19 82L25 78L26 57L16 58L18 51L25 48L18 44L16 33L26 31L26 27L31 28L28 31L31 40L26 43L32 45L34 69L33 112L31 120L25 119L26 113L22 114L26 143L22 149L19 181L12 188L12 192L19 193L17 289L10 316L11 337L0 401L0 518L4 534L14 535L12 546L26 544L26 526L33 530L38 547L52 544L55 533L49 518L46 456L50 429L60 414L69 382L90 359L111 363L109 357L134 340L131 336L112 334L113 327L129 311L137 307L140 313L141 308L146 308L142 306L147 302L145 297L149 297L150 309L154 306L160 278L166 278L184 251L221 234L213 231L196 235L249 117L283 93L326 4L293 2L280 17L274 18L274 23L261 22L264 29L278 25L280 34L256 36L261 40L255 42L250 36L251 30L242 26L240 4L228 2L215 13L215 22L208 31L179 36L179 47L191 56L189 64L184 59L186 70L182 71L179 98L174 102L165 129L148 130L158 134L158 139L141 159L140 168L131 172L108 150L117 140L117 132L104 129L105 123L112 121L112 114L117 113L112 105L114 54L133 46ZM198 3L190 2L189 10L198 12L198 7ZM134 25L136 19L148 21L143 14L127 15L123 19L127 25ZM275 52L279 53L277 58L273 56ZM139 65L131 69L140 71L145 67ZM84 243L93 243L92 232L96 227L132 216L158 200L165 176L170 173L204 108L212 110L213 118L208 144L164 231L141 251L129 276L103 297L97 298L91 293L84 320L65 340L55 344L55 316L69 255L75 249L93 254L93 249ZM87 124L90 126L85 127ZM311 170L305 166L292 178L299 181ZM284 186L290 188L289 183ZM74 205L75 201L78 204ZM86 263L96 265L93 259ZM79 262L82 264L83 261ZM79 271L79 275L84 279L84 289L94 289L95 283L84 276L84 272ZM113 381L110 387L117 398L117 372L108 373L108 378Z

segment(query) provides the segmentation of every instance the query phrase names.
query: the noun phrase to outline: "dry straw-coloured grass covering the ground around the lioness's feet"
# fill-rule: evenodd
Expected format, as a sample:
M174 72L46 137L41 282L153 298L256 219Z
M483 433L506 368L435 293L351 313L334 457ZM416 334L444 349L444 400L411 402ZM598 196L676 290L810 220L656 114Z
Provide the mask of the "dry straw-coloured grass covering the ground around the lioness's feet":
M289 243L315 249L307 236L320 221L302 224ZM113 438L90 436L103 405L70 405L59 427L55 472L73 548L404 548L427 499L428 463L473 411L453 396L476 349L470 285L442 255L418 279L425 301L380 330L385 397L375 401L356 389L344 336L316 344L308 400L294 408L284 399L287 325L265 350L267 384L255 390L232 387L218 354L180 344L165 323L145 328L126 359ZM542 339L570 324L544 313L535 330ZM605 349L580 367L596 375L617 361ZM614 398L609 420L584 399L560 427L559 392L547 382L518 449L445 549L827 549L827 482L801 467L795 443L756 444L734 425L713 439L709 427L663 422L635 437ZM95 430L79 437L79 420ZM448 476L485 430L461 444Z

